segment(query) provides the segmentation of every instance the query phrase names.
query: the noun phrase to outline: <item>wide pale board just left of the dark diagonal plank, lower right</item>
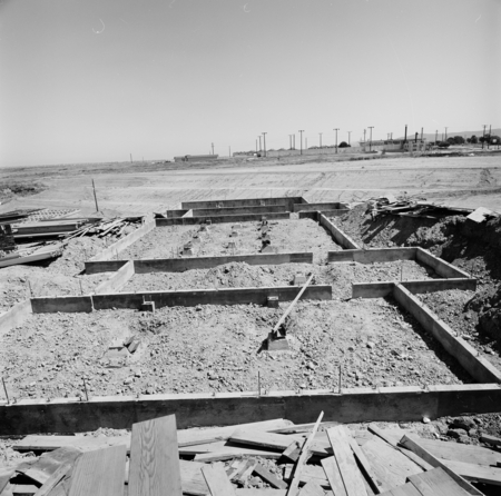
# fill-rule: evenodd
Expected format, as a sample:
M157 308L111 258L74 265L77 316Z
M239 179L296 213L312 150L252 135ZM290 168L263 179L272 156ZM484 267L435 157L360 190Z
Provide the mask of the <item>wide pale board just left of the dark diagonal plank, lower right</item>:
M405 484L407 476L423 472L379 437L367 440L361 449L370 462L376 479L386 488L401 486Z

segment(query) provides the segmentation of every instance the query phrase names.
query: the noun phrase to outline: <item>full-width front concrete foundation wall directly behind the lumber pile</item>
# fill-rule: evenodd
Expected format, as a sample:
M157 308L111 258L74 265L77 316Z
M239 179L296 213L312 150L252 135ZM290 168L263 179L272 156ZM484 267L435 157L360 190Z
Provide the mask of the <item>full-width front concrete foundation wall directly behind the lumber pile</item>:
M130 429L138 421L176 414L178 428L234 425L273 418L324 421L418 421L469 413L497 413L501 387L490 385L381 387L327 390L208 393L0 401L0 435L70 434L98 428Z

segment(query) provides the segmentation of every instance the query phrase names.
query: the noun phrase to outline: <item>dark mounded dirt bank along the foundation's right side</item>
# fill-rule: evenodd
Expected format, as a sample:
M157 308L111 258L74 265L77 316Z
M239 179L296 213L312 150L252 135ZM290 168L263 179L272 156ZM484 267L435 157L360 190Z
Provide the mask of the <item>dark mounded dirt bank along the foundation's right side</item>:
M477 224L462 216L443 219L379 216L365 206L334 218L361 246L420 246L478 279L475 296L463 313L478 315L477 330L501 343L501 218Z

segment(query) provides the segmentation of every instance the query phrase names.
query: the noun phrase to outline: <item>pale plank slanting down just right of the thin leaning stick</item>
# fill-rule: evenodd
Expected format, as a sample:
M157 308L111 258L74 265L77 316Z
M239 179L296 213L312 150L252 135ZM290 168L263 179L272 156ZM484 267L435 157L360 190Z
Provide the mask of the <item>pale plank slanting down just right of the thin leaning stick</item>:
M341 477L346 489L347 496L365 496L365 485L362 474L356 466L356 462L350 444L343 433L342 426L332 427L327 430L334 457L340 467Z

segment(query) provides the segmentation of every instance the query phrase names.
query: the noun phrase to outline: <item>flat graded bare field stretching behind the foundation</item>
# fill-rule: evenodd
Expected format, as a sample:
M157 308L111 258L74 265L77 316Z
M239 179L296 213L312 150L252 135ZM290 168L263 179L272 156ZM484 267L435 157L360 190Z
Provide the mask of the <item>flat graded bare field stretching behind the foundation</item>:
M78 207L95 211L91 178L99 208L107 215L143 214L176 208L180 201L224 198L304 196L310 201L362 200L385 191L406 192L462 207L501 210L501 156L389 157L362 161L322 161L310 158L226 160L158 170L135 167L60 166L2 169L1 180L41 180L38 195L0 205L16 208ZM177 166L176 166L177 167ZM153 169L153 170L151 170ZM145 171L141 171L145 170Z

